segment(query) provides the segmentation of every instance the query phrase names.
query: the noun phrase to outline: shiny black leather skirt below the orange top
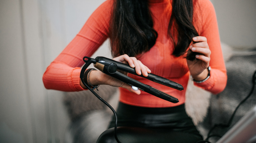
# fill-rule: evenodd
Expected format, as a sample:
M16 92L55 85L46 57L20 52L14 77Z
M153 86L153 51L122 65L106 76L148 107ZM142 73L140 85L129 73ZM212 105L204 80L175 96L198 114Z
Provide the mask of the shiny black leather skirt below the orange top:
M115 118L109 128L115 126ZM117 126L139 128L140 140L149 139L160 142L195 143L203 140L192 119L188 117L184 104L168 108L147 108L119 103L117 108ZM145 129L145 130L144 130ZM131 129L133 130L133 129Z

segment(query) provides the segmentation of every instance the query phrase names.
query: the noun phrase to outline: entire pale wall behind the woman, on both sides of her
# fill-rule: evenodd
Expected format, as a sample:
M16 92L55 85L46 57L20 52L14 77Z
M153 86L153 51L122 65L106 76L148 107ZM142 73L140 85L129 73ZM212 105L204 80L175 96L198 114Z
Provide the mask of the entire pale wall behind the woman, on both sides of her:
M103 1L0 1L0 142L63 142L64 92L46 90L42 75ZM212 2L222 41L256 47L255 0ZM108 43L100 51L109 56Z

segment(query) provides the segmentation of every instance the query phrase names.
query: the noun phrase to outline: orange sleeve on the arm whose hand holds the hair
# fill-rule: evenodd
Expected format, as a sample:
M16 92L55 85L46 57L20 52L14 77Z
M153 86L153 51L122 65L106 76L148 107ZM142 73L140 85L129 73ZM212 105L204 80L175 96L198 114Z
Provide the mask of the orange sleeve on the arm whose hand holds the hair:
M221 43L219 37L219 30L217 24L217 18L212 3L208 0L201 0L197 12L200 12L201 29L200 36L207 38L207 43L211 50L211 76L208 80L203 83L194 83L196 86L202 87L203 89L218 94L224 90L227 81L226 68L224 64L223 54L221 50Z

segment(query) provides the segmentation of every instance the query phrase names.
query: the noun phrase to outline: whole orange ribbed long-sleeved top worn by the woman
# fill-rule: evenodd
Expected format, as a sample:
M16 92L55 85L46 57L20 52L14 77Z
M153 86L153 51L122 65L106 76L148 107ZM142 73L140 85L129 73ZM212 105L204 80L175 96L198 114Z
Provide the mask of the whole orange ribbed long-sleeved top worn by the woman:
M84 90L80 86L79 78L80 67L84 64L82 59L84 56L92 56L108 38L112 3L112 0L107 0L98 7L81 31L49 65L43 76L46 88L62 91ZM130 77L144 84L178 98L180 102L170 103L143 91L140 95L137 95L124 88L120 88L120 101L143 107L177 106L185 102L189 71L186 59L172 55L174 47L167 33L172 5L169 0L149 0L149 9L152 13L153 28L158 32L158 38L150 51L141 55L139 60L149 67L152 73L181 84L184 90L179 91L129 74ZM210 1L199 0L194 4L193 20L199 35L207 38L212 53L210 61L211 76L207 81L196 85L216 94L224 89L227 75L221 51L216 15Z

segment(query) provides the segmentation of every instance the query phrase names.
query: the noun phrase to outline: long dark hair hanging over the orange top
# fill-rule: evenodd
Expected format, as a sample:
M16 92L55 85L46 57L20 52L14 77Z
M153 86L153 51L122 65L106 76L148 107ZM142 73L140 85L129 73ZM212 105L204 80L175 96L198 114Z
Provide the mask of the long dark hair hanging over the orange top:
M169 36L174 42L173 55L181 56L186 52L192 38L198 36L193 22L193 0L173 0L173 10L169 22ZM175 27L177 32L171 32ZM137 56L149 51L157 39L147 0L115 0L110 40L113 56L127 54ZM174 37L178 39L175 40ZM191 58L191 55L187 55Z

